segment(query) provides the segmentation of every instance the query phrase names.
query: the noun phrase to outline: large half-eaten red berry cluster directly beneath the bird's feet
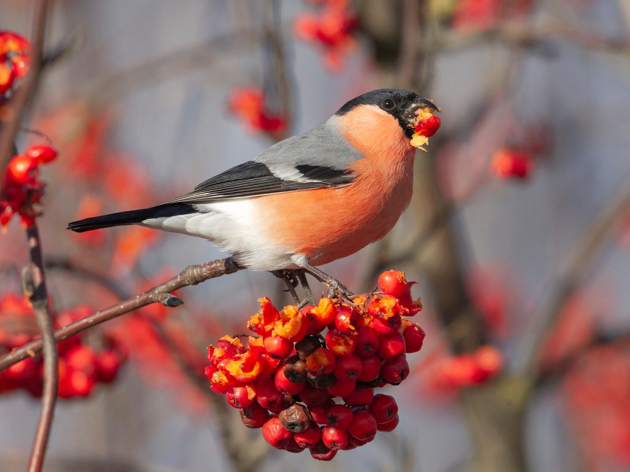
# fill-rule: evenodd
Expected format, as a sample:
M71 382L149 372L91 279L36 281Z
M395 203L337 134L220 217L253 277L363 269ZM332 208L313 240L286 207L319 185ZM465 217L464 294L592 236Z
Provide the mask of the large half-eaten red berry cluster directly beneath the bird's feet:
M381 292L350 303L322 298L302 310L278 311L261 298L248 322L260 337L249 336L244 346L225 336L209 346L210 388L278 449L310 449L312 457L330 460L340 449L367 444L377 431L398 425L396 401L374 395L374 388L399 385L410 372L405 353L420 351L425 337L405 318L421 310L411 298L413 284L387 271Z

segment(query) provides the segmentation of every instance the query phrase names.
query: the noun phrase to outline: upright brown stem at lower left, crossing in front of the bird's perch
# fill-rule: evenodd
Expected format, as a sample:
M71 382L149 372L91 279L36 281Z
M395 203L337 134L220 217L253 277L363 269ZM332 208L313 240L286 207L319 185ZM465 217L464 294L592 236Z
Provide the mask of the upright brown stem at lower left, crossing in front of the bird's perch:
M43 340L43 393L42 412L35 432L33 451L31 452L28 472L40 472L46 454L46 446L52 426L52 415L55 411L57 388L59 387L59 356L52 330L52 317L48 303L46 280L43 274L42 246L40 243L37 224L26 228L26 238L30 249L31 263L22 272L24 293L28 296L37 325L42 332Z

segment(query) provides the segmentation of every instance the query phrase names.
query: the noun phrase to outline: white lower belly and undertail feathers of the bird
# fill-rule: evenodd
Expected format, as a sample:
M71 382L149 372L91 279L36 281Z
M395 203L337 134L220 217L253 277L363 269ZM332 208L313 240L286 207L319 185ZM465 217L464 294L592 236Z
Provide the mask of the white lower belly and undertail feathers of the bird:
M258 218L248 199L230 199L195 205L190 215L151 218L139 223L163 231L184 233L208 239L232 253L234 261L253 271L296 269L291 252L261 237Z

